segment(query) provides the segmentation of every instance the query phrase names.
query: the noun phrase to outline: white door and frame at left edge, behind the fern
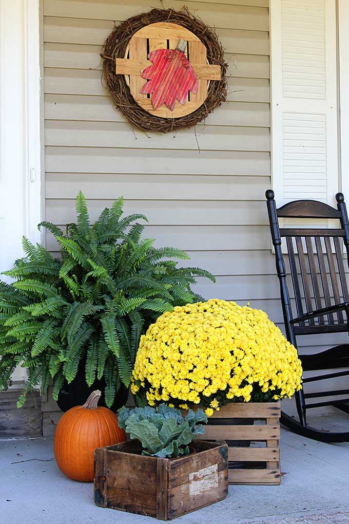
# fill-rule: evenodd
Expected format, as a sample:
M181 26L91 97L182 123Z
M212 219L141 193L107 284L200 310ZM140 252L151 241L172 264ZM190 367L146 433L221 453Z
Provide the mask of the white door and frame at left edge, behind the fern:
M41 242L39 4L0 0L0 271L23 256L22 236Z

